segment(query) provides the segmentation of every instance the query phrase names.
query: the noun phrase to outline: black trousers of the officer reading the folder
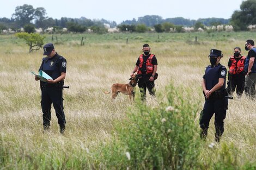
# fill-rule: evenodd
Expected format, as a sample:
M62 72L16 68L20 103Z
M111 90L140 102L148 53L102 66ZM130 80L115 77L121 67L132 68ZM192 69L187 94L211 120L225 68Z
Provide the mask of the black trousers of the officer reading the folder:
M65 124L65 114L63 107L62 88L59 87L44 87L41 95L41 108L42 108L42 119L44 126L50 126L51 121L51 105L56 112L59 124Z

